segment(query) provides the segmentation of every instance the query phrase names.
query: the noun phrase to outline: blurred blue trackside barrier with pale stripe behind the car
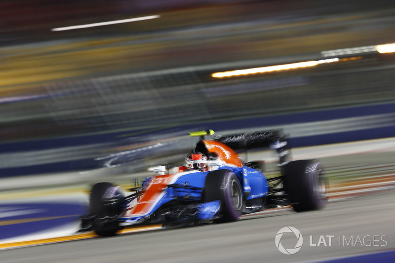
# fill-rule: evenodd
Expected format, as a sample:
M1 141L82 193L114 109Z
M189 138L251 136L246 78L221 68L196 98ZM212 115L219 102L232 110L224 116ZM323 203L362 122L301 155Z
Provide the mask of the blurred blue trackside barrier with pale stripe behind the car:
M131 172L158 163L179 161L196 143L194 138L189 138L188 131L198 128L212 128L217 134L283 129L291 148L394 137L394 107L395 104L382 104L201 122L134 135L118 131L2 144L0 177L119 165L124 168L109 170L107 173L125 170ZM376 150L388 148L386 145L375 147L378 148ZM362 149L362 152L368 149L370 148ZM333 149L330 150L332 151ZM342 154L341 150L336 154Z

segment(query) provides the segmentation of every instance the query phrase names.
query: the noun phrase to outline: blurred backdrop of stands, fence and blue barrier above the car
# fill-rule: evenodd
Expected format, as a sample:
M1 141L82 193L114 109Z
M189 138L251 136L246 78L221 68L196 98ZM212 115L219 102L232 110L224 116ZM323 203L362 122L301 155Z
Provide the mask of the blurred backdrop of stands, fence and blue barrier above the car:
M195 128L395 135L392 0L3 0L0 17L2 177L180 153Z

